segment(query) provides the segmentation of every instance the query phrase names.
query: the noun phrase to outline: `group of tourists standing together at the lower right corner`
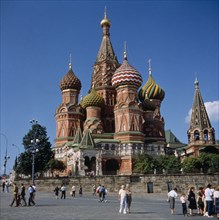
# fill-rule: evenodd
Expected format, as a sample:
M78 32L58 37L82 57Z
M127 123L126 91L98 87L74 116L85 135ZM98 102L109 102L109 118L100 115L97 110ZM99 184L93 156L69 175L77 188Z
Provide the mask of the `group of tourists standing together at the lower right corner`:
M176 197L177 188L174 188L168 193L171 214L174 214ZM208 184L206 188L199 187L197 193L195 192L195 187L190 187L187 194L182 192L180 201L184 216L193 216L194 210L198 209L199 215L212 218L215 213L219 219L219 186L213 188L211 184ZM187 207L189 212L187 211Z

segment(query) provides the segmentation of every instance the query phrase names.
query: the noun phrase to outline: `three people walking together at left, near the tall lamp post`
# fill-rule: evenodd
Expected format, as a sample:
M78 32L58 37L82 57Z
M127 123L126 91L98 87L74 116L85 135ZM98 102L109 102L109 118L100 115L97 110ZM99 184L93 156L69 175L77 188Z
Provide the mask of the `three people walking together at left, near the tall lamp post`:
M28 188L29 192L29 198L28 198L28 204L26 201L26 189L24 184L21 184L21 188L19 190L17 184L13 182L13 200L10 204L12 207L15 204L15 207L18 206L34 206L35 203L35 193L36 193L36 186L35 184L30 185Z

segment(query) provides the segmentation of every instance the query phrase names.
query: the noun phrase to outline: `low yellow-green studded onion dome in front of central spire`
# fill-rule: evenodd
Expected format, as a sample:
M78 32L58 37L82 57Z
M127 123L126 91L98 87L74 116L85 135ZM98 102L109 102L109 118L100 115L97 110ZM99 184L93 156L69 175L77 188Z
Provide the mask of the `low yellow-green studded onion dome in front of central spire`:
M88 95L82 101L81 106L87 108L89 106L102 107L104 105L104 98L97 94L96 90L92 88Z

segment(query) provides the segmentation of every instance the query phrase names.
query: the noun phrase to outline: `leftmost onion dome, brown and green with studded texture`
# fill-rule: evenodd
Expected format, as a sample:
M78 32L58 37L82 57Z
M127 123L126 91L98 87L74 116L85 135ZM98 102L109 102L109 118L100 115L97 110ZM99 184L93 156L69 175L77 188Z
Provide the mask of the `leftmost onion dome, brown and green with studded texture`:
M69 71L60 81L60 89L62 91L65 89L81 90L81 81L73 73L71 62L69 63Z

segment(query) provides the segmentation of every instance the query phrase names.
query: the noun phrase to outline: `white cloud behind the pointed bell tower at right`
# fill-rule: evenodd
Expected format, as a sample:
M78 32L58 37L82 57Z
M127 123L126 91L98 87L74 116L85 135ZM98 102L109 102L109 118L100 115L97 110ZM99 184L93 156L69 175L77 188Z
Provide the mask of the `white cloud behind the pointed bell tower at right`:
M211 122L219 121L219 100L213 102L205 102L205 108ZM185 117L186 123L190 123L192 109L189 110L188 115Z

